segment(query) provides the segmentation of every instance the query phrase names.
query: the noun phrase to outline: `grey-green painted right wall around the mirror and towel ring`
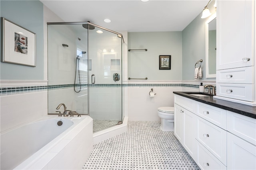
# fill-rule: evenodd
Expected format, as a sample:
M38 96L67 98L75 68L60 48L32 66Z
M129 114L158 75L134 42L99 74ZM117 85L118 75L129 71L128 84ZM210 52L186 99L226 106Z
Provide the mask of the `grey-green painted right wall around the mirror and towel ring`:
M208 8L212 14L215 12L213 3L210 3ZM200 59L203 59L202 78L198 81L216 80L205 77L205 22L209 17L202 19L201 16L202 12L182 31L182 80L194 80L195 64Z

